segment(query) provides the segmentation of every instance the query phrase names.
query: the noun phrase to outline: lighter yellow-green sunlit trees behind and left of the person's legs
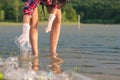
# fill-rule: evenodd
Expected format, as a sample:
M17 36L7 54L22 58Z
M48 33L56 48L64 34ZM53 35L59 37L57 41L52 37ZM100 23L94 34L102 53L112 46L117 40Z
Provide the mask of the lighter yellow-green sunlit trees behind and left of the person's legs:
M65 6L62 9L63 21L76 21L76 11L71 5ZM9 22L21 22L22 21L22 9L24 8L24 2L21 0L0 0L0 21ZM38 7L39 20L46 21L48 19L48 12L44 7L45 16L42 11L42 6ZM70 14L69 14L70 13Z

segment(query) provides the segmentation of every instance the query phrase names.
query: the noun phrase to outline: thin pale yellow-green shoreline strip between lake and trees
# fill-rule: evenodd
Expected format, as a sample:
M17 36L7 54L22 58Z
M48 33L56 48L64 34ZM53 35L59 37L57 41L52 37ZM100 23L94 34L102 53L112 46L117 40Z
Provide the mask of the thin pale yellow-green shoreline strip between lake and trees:
M15 23L15 22L0 22L0 27L2 26L14 26L14 27L17 27L17 26L22 26L22 22L18 22L18 23ZM39 22L38 23L38 27L41 27L41 26L46 26L47 25L47 21L43 21L43 22ZM120 24L85 24L85 23L80 23L78 24L77 22L62 22L61 24L61 27L64 27L64 26L70 26L70 27L115 27L115 26L120 26Z

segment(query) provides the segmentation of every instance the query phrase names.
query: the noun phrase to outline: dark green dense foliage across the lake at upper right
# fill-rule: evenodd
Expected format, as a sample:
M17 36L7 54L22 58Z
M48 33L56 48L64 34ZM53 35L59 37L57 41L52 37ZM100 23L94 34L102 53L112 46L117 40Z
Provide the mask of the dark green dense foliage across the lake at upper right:
M81 22L120 23L120 0L71 0Z

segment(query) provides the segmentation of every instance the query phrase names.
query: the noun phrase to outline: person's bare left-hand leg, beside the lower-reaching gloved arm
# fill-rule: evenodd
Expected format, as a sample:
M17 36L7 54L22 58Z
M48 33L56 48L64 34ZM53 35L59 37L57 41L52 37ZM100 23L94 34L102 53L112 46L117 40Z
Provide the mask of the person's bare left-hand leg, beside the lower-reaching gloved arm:
M38 9L35 8L30 22L30 42L34 57L38 57Z

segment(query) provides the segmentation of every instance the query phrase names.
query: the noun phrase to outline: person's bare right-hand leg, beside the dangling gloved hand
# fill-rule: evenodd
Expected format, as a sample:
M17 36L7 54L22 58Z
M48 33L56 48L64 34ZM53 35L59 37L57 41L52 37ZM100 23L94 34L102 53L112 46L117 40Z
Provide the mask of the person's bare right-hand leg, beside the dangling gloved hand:
M57 58L57 45L60 36L61 29L61 10L59 9L56 18L52 25L52 30L50 32L50 55L52 58Z

